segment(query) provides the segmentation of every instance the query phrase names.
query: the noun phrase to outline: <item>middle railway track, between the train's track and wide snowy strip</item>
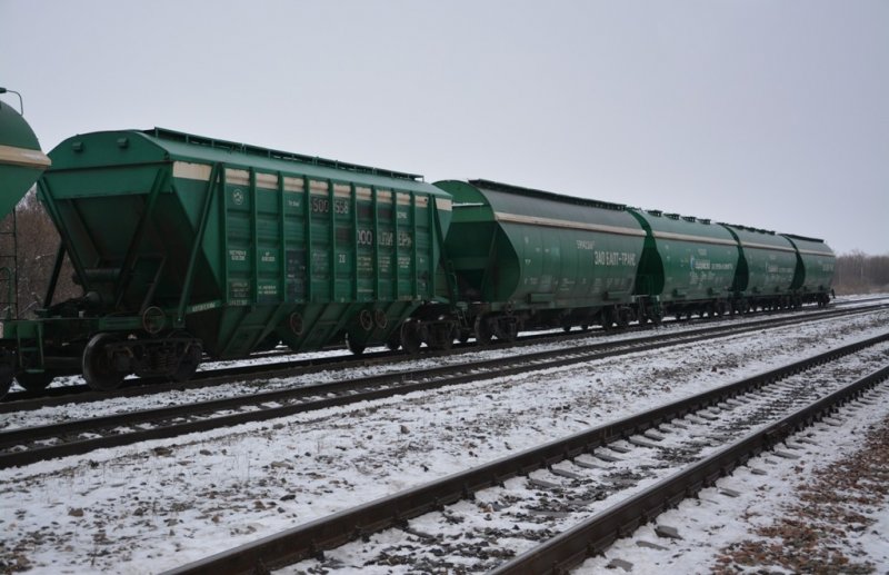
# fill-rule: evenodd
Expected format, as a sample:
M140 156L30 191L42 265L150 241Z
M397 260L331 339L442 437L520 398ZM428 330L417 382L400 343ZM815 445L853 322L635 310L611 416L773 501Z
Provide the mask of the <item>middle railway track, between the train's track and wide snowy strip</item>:
M588 344L570 349L555 349L429 368L423 371L398 371L343 381L301 386L297 388L263 391L249 396L184 404L157 409L129 412L103 417L91 417L39 427L22 427L0 433L0 469L29 465L39 460L71 455L82 455L94 449L121 447L151 439L170 438L190 433L207 432L252 422L262 422L310 410L343 406L357 401L381 399L413 391L466 384L483 378L502 377L562 367L567 365L602 359L639 351L650 351L675 345L683 345L715 337L731 337L763 327L822 319L822 317L792 317L780 320L761 320L741 326L715 326L676 334L643 336L619 341ZM333 397L330 397L334 395ZM269 406L268 404L284 405ZM256 409L214 415L219 412L257 406ZM151 428L132 428L151 424ZM128 429L130 430L122 430ZM82 438L81 434L92 437ZM100 435L96 437L94 435ZM51 439L61 439L54 445L40 445ZM29 444L38 444L28 446Z

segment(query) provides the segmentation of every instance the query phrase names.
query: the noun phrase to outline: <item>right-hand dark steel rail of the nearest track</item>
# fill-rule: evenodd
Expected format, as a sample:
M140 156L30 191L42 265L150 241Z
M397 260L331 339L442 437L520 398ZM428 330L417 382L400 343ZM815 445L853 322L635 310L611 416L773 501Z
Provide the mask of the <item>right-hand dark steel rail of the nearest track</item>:
M492 569L496 575L567 573L588 557L603 552L617 539L632 534L682 499L729 475L750 458L771 449L788 436L821 419L838 406L859 397L889 378L889 366L739 439L710 457L690 465L641 493L562 532L508 563Z

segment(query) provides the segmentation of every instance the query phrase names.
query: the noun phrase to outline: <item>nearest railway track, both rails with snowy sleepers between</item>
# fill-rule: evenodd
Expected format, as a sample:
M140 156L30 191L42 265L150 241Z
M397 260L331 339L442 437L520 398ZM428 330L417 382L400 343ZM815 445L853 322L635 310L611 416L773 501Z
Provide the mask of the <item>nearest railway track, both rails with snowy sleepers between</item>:
M363 566L560 572L886 380L886 341L889 334L819 354L169 573L252 573L306 558L314 558L306 568L326 571L340 565L341 557L324 552L349 542L354 543L342 557ZM812 370L827 371L825 364L881 344L870 360L883 367L846 386L825 390L811 385ZM880 399L872 400L882 401L885 396L883 390ZM793 448L787 443L773 455L792 458ZM657 483L640 486L658 473ZM589 509L596 507L598 513L590 517ZM489 523L492 515L498 517ZM578 515L587 518L578 522ZM503 524L513 527L498 527ZM398 531L373 535L390 527ZM532 542L540 539L546 543L535 547ZM528 551L511 557L516 547ZM456 558L441 559L449 556Z

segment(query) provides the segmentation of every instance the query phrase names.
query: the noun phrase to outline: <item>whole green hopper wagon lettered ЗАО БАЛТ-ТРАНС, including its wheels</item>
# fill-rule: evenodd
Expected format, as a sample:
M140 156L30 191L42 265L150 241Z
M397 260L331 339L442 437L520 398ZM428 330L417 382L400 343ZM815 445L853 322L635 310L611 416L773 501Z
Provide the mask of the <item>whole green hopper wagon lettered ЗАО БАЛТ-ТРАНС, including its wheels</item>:
M453 199L442 254L457 304L419 310L409 348L450 336L511 340L520 329L627 324L646 232L626 207L490 180L444 180Z

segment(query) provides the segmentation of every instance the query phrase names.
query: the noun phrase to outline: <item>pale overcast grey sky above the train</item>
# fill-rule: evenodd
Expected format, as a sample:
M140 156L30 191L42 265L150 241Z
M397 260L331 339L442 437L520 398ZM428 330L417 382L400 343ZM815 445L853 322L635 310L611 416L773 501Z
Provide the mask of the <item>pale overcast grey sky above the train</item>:
M889 252L889 0L0 0L0 86L47 150L160 126Z

